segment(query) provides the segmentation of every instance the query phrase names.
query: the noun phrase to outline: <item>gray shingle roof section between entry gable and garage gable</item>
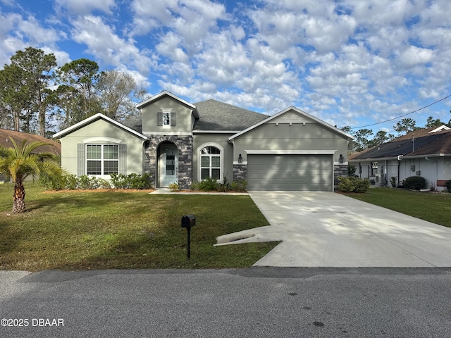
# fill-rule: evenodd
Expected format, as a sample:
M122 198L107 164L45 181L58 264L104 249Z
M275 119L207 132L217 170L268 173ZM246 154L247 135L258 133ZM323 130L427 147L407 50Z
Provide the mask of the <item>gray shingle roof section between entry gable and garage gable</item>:
M225 104L220 101L209 99L194 104L200 115L194 125L196 130L230 130L241 131L251 125L255 125L266 118L267 115L248 111L247 109Z

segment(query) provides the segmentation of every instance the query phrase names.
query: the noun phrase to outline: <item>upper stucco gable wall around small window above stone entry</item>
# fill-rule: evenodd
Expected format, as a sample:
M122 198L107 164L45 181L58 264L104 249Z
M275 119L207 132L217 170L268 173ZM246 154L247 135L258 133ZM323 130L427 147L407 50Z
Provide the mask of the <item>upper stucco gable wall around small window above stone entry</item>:
M161 112L161 108L171 109L176 113L176 125L171 127L163 127L157 125L157 113ZM192 118L192 109L180 101L173 99L171 96L163 96L161 99L152 102L142 111L142 133L147 134L190 134L194 120Z

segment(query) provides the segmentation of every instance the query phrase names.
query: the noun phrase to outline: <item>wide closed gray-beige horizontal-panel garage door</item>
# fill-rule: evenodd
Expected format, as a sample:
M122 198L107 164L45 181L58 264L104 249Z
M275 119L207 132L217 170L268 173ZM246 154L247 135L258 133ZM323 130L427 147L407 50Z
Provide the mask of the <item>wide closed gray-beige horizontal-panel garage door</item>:
M330 155L248 155L247 189L333 191Z

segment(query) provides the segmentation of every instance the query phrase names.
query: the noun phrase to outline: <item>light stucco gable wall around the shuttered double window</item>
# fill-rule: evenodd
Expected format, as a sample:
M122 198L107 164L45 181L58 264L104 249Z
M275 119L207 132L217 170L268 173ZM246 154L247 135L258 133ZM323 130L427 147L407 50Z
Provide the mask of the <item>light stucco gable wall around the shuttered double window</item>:
M96 139L92 139L96 138ZM107 141L105 138L118 140ZM88 139L92 139L87 142ZM61 138L61 166L68 173L77 175L77 144L127 144L127 173L142 174L143 140L116 125L97 120Z

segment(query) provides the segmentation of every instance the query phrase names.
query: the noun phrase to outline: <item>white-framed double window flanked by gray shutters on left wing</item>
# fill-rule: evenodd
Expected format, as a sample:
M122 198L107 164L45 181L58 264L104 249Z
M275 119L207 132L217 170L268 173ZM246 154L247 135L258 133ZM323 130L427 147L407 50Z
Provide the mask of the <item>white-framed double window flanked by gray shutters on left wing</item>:
M109 175L118 173L118 144L87 144L87 175Z

